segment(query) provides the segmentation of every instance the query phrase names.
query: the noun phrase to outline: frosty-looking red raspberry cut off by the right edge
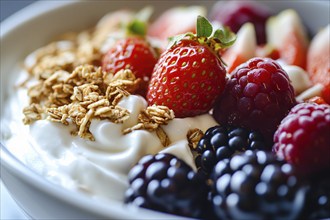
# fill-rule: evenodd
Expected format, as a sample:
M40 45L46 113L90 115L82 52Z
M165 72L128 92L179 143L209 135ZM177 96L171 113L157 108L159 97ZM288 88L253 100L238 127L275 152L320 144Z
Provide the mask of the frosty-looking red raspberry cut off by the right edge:
M274 135L274 151L304 173L330 170L330 106L301 103Z

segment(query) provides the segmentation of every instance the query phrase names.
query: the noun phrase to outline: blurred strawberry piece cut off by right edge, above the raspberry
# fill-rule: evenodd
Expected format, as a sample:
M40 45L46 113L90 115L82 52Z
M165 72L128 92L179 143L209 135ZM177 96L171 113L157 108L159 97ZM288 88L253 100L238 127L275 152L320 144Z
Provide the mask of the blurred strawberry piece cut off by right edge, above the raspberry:
M307 72L314 84L324 86L322 96L330 103L330 25L322 29L311 41L307 54Z

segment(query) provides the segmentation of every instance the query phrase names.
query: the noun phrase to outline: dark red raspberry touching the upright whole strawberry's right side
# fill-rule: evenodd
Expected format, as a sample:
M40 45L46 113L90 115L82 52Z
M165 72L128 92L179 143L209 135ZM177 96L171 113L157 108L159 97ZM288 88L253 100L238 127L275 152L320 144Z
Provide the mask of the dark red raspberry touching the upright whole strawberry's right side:
M213 116L222 125L256 130L272 141L295 104L293 87L281 66L269 58L252 58L232 72Z

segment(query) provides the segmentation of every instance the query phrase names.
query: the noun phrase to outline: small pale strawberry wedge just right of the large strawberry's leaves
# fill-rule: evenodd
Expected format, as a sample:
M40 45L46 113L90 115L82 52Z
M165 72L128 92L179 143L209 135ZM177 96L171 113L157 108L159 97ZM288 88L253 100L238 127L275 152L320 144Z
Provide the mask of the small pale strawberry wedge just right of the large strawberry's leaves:
M257 40L254 25L245 23L237 32L236 42L222 55L227 64L227 71L231 73L237 66L255 57Z

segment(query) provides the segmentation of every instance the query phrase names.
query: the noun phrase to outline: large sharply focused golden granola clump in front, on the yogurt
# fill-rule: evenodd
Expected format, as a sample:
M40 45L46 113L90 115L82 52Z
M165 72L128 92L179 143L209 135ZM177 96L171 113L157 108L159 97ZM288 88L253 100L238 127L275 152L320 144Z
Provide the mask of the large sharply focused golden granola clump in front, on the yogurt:
M122 123L128 119L128 110L117 104L130 94L127 90L134 92L138 83L130 70L116 76L88 64L76 67L71 74L58 70L29 89L31 104L23 110L23 121L30 124L47 118L64 125L71 121L77 126L74 134L94 140L89 131L91 120Z

